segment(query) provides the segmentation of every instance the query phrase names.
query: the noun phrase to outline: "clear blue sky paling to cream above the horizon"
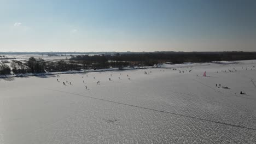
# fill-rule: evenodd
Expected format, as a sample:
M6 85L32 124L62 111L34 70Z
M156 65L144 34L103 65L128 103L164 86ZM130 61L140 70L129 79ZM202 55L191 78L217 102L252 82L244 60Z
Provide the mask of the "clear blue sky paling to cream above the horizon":
M0 0L0 51L256 51L256 1Z

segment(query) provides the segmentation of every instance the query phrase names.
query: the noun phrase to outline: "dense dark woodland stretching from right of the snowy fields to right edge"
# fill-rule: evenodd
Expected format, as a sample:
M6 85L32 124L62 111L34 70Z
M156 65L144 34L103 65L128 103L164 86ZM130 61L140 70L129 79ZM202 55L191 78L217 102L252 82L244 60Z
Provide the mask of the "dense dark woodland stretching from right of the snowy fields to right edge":
M158 63L237 61L256 59L256 52L142 52L115 53L114 55L73 56L71 60L84 65L98 64L100 67L152 66Z

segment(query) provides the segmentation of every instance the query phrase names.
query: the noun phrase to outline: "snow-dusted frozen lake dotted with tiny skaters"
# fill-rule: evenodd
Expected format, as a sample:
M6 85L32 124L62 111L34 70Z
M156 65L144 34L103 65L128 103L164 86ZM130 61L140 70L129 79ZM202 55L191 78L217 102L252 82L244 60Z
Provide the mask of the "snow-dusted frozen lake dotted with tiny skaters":
M256 143L255 65L0 79L0 143Z

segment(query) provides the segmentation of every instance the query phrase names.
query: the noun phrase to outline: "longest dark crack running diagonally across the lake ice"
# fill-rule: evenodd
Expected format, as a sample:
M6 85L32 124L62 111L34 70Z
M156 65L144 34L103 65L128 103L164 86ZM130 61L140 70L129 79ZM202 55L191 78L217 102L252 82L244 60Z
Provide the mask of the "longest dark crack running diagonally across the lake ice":
M46 89L49 89L49 88L46 88ZM49 90L51 90L51 91L56 91L56 92L62 92L62 93L69 93L69 94L79 95L79 96L87 97L87 98L91 98L91 99L97 99L97 100L102 100L102 101L108 101L108 102L110 102L110 103L115 103L115 104L127 105L127 106L132 106L132 107L138 107L138 108L140 108L140 109L146 109L146 110L152 110L152 111L158 111L158 112L169 113L169 114L171 114L171 115L177 115L177 116L182 116L182 117L188 117L188 118L199 119L199 120L201 120L201 121L207 121L207 122L212 122L212 123L218 123L218 124L229 125L229 126L232 126L232 127L238 127L238 128L245 128L245 129L250 129L250 130L256 130L255 128L248 128L248 127L244 127L244 126L242 126L242 125L236 125L236 124L230 124L230 123L212 121L212 120L210 120L210 119L204 119L204 118L199 118L199 117L187 116L187 115L182 115L182 114L179 114L179 113L173 113L173 112L168 112L168 111L155 110L155 109L150 109L150 108L147 108L147 107L142 107L142 106L137 106L137 105L131 105L131 104L125 104L125 103L120 103L120 102L117 102L117 101L112 101L112 100L107 100L107 99L94 98L94 97L90 97L90 96L86 96L86 95L82 95L82 94L77 94L77 93L59 91L59 90L56 90L56 89L49 89Z

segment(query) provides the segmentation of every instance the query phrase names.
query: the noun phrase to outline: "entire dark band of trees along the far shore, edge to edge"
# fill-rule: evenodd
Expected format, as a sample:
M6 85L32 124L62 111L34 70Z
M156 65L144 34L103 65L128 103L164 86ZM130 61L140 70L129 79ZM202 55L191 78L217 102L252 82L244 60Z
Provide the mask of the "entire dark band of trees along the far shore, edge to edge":
M26 62L11 62L10 67L2 63L0 75L46 73L46 71L67 71L83 69L123 68L134 66L152 66L171 62L212 62L238 61L256 59L256 52L140 52L114 53L111 55L78 55L61 61L45 61L42 58L30 57Z

